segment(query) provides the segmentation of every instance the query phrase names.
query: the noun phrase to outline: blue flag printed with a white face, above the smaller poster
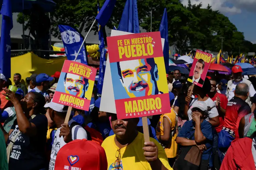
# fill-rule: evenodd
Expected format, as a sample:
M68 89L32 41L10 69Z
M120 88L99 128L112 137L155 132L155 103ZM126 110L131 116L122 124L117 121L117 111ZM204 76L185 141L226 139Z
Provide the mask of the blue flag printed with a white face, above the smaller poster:
M59 25L59 31L67 58L68 60L74 61L77 52L84 41L84 37L78 33L77 29L69 25ZM88 65L87 61L87 51L85 44L83 44L83 47L77 56L76 62Z

